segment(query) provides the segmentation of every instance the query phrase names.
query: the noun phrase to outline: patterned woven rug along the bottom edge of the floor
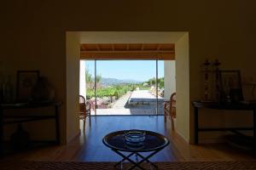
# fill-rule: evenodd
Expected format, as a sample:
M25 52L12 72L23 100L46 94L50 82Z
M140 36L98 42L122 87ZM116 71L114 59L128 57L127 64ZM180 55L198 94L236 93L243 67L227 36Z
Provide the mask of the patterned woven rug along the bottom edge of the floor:
M157 162L159 169L171 170L256 170L256 161L177 161ZM78 161L0 161L1 170L109 170L113 162L78 162ZM131 166L125 163L124 169ZM147 163L145 169L151 169Z

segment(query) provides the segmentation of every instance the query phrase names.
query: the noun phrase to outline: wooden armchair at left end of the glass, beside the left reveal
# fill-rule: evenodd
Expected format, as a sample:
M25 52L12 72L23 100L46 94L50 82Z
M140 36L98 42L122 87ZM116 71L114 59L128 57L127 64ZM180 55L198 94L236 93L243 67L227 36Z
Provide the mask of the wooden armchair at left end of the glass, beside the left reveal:
M79 120L84 121L84 130L87 117L89 117L90 124L90 103L85 101L84 96L79 95Z

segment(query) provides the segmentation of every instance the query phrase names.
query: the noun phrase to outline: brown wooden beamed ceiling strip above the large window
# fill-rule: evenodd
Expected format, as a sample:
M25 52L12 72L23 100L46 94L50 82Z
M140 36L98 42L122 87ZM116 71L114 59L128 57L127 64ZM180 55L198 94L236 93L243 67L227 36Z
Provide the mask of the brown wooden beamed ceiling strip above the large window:
M80 59L175 59L173 43L83 43Z

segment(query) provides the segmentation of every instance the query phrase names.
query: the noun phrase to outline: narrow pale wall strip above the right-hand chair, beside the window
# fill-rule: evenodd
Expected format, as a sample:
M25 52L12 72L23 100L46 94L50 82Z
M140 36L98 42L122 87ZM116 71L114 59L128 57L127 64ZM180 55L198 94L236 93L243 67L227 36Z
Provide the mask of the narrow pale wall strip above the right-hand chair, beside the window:
M175 60L165 60L165 99L170 99L176 92L176 68Z

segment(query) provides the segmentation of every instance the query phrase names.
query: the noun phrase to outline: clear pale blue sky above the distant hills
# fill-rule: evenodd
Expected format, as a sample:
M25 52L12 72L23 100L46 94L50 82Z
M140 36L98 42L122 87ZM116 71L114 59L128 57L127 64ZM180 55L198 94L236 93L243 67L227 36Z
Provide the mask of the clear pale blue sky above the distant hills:
M86 61L90 74L94 75L94 60ZM155 60L97 60L96 73L105 78L147 81L155 77ZM164 77L164 61L158 61L158 77Z

